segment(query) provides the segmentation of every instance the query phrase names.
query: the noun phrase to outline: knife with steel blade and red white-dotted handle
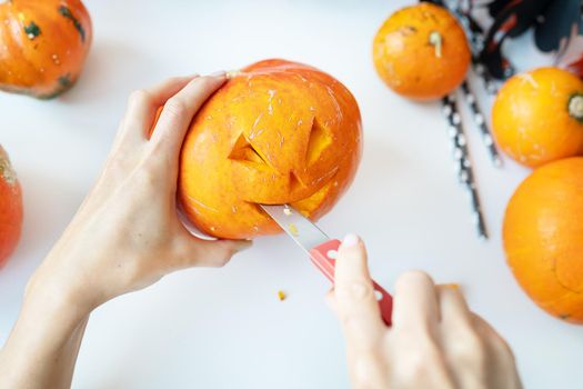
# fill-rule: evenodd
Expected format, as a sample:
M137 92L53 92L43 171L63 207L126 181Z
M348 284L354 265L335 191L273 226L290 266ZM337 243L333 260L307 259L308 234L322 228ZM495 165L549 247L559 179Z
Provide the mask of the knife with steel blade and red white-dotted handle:
M318 269L334 283L334 261L340 240L330 239L318 226L291 206L265 206L261 208L302 248ZM393 298L379 283L372 281L379 301L381 317L391 326Z

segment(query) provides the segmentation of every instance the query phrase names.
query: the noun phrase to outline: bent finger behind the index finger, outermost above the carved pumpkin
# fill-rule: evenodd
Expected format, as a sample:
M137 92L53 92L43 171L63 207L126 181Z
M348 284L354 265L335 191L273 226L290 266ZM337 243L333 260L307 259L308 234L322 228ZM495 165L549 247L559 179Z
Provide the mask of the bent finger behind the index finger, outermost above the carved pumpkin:
M152 88L132 92L114 146L144 143L155 110L195 77L175 77Z

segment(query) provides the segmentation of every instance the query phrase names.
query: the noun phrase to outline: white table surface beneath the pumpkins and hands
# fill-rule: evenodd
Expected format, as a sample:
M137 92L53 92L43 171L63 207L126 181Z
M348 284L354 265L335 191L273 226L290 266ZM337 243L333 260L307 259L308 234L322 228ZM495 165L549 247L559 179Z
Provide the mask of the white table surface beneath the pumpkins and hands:
M527 388L581 387L583 332L536 308L505 265L504 208L527 173L489 163L469 138L492 238L476 239L454 179L436 103L399 98L378 79L371 42L402 0L88 0L94 42L77 87L53 101L0 93L0 142L24 190L24 231L0 272L0 345L27 279L100 170L130 91L163 78L281 57L343 81L360 103L364 156L331 236L356 231L374 277L424 269L459 282L513 347ZM483 99L487 107L491 99ZM187 270L91 316L76 388L348 388L343 341L323 302L328 282L284 236L255 241L220 270ZM279 301L277 291L289 293Z

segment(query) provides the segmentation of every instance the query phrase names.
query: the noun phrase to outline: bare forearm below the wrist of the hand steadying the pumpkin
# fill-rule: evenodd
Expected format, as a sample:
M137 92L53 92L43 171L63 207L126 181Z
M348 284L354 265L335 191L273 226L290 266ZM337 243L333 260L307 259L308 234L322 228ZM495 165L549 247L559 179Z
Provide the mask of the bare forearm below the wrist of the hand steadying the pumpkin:
M0 388L69 388L89 310L61 290L33 285L0 351Z

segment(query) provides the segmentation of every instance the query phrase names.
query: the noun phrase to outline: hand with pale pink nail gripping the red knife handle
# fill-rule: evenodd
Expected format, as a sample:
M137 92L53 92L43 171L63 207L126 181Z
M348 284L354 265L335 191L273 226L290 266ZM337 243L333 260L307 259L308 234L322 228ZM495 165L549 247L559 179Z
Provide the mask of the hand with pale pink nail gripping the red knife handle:
M328 300L346 338L354 389L521 388L512 351L461 292L412 271L396 281L393 325L384 326L364 243L348 236Z

